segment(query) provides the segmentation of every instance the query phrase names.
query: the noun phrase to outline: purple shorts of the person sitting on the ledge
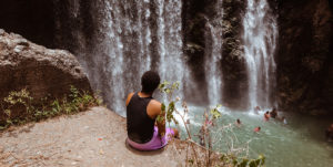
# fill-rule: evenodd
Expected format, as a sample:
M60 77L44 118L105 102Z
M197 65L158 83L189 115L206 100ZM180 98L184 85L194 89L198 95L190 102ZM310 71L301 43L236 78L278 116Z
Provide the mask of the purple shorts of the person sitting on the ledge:
M172 136L174 136L174 132L172 128L165 128L165 135L163 137L159 136L159 129L155 126L153 137L150 142L145 144L138 144L128 138L127 143L139 150L155 150L163 148L168 144L168 140L172 138Z

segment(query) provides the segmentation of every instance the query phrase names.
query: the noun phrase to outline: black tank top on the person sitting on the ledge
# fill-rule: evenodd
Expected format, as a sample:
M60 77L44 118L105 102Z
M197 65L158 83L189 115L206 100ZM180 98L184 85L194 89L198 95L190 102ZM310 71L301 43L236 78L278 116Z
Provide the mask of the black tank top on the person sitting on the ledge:
M147 106L152 97L140 97L135 93L127 106L128 136L131 140L144 144L151 140L155 119L147 114Z

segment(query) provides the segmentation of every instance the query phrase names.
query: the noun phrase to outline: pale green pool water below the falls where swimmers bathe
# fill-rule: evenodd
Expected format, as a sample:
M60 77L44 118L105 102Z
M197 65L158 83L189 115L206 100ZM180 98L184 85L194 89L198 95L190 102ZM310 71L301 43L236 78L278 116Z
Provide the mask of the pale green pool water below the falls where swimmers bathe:
M191 106L189 118L193 134L199 133L205 107ZM287 124L278 119L263 121L264 112L235 112L221 109L222 116L212 128L214 148L222 152L245 148L240 156L256 158L266 157L268 167L332 167L333 143L327 143L324 131L330 125L330 118L279 112L285 116ZM235 126L240 118L242 125ZM253 129L260 126L261 132ZM199 142L198 138L195 138ZM249 149L248 149L249 146Z

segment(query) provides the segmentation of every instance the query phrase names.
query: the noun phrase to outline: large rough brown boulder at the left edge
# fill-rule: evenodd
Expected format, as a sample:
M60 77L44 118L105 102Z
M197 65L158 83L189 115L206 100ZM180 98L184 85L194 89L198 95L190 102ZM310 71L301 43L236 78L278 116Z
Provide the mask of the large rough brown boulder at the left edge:
M22 88L36 100L62 98L70 93L71 85L91 92L88 77L74 55L46 49L1 29L0 77L0 102L9 92Z

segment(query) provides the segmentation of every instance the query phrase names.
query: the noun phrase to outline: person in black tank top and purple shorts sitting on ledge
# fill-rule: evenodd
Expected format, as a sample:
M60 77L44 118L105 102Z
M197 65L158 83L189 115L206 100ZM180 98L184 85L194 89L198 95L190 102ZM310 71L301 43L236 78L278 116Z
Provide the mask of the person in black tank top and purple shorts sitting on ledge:
M172 136L179 135L176 129L165 129L165 114L161 112L161 103L152 97L159 84L160 75L157 72L145 72L141 77L141 92L130 93L125 102L127 143L139 150L160 149ZM157 122L159 115L162 122Z

